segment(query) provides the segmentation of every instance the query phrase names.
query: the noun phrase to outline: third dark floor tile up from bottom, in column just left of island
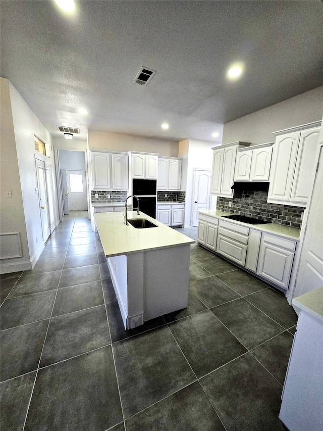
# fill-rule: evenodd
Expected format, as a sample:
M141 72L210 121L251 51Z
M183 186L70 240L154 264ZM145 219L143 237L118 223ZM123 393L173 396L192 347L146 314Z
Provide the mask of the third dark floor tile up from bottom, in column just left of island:
M77 284L57 292L52 316L72 313L104 304L101 281Z

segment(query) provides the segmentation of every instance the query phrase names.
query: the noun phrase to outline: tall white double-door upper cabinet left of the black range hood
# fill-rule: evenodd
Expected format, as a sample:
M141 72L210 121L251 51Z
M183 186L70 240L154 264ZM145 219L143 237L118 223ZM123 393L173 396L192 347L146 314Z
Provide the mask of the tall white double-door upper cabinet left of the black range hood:
M249 147L250 142L232 142L227 145L213 148L213 165L211 194L233 197L231 188L234 182L237 151L240 148Z

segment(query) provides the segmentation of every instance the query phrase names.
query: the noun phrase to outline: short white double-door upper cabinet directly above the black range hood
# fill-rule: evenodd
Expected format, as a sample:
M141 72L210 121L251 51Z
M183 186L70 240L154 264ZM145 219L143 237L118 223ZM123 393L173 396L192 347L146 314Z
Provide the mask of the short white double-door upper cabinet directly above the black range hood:
M274 142L242 148L237 153L235 181L268 181Z

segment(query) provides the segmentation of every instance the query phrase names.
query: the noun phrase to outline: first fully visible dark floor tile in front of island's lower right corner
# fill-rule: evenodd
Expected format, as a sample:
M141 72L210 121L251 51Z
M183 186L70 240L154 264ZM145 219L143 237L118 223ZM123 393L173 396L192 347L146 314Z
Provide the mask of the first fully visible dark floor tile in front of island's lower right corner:
M247 351L209 310L169 328L198 378Z

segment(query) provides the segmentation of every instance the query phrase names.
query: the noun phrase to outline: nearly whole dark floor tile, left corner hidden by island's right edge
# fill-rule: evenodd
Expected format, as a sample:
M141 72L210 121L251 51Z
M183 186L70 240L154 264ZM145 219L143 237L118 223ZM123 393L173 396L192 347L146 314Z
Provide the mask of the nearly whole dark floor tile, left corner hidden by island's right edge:
M240 298L240 295L213 276L190 281L190 289L208 308Z

